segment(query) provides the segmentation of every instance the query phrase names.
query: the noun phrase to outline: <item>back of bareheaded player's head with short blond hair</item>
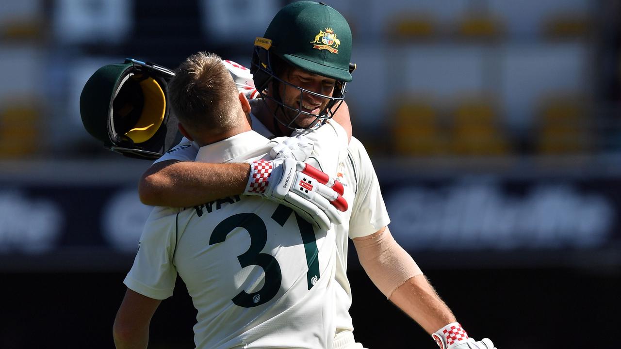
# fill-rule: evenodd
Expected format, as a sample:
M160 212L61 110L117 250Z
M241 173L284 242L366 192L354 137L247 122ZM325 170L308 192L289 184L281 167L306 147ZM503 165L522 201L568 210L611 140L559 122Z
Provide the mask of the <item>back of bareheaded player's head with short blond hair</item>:
M237 88L222 58L215 53L195 53L175 74L169 84L170 102L184 127L218 134L240 123Z

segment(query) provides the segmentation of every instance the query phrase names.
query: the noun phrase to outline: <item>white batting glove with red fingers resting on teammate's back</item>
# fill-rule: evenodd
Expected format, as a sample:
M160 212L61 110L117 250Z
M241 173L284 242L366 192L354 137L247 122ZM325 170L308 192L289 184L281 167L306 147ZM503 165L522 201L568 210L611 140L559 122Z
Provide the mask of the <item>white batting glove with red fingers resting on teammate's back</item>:
M263 196L291 207L322 230L330 229L330 223L341 224L343 219L338 211L347 211L340 182L311 165L289 158L251 162L244 194Z

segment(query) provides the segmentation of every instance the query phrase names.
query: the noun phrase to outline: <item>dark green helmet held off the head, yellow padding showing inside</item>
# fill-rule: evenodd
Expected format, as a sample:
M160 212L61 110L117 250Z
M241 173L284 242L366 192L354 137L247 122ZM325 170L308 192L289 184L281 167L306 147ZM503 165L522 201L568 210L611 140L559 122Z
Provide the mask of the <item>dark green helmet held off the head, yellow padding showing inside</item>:
M127 58L99 68L80 95L84 129L104 147L133 158L159 158L178 140L177 118L168 104L163 66Z

